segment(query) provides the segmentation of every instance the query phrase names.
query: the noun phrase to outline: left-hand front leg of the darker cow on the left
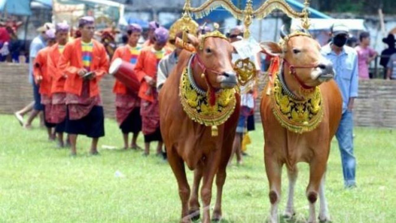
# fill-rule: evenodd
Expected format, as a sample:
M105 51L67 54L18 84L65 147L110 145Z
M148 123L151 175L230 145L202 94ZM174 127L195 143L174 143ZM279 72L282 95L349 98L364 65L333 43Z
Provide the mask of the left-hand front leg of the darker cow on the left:
M190 186L188 186L184 162L181 157L174 152L173 149L169 149L167 152L169 165L175 174L177 185L179 187L179 196L181 200L181 222L189 223L191 222L190 216L188 215L188 198L190 196Z

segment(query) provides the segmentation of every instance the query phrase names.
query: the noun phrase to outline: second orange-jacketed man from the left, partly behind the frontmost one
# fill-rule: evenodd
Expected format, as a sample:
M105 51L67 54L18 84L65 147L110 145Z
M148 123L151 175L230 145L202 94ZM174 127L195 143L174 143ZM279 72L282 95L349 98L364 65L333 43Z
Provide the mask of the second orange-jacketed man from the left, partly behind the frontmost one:
M48 73L52 77L52 122L56 124L55 132L58 135L58 146L63 147L63 132L65 131L67 110L65 101L65 81L67 76L59 69L58 62L69 38L69 25L67 23L56 24L55 36L57 44L49 49L47 63Z

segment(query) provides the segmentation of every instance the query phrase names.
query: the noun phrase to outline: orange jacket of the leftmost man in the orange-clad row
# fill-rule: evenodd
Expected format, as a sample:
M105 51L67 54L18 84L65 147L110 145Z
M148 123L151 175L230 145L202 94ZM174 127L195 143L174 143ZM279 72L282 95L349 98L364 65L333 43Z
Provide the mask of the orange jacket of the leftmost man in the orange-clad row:
M49 53L49 47L45 47L40 50L33 62L33 77L34 81L41 77L40 82L40 94L51 95L51 76L47 71L47 56ZM37 81L36 81L37 83Z

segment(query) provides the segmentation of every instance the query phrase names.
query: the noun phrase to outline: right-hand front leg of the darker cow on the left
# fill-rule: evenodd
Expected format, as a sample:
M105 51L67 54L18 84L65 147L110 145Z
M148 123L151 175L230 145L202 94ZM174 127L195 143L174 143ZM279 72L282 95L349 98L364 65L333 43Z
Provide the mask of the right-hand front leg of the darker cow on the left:
M203 223L210 223L210 200L212 198L213 179L219 167L221 150L213 150L205 160L202 176L201 198L203 210Z

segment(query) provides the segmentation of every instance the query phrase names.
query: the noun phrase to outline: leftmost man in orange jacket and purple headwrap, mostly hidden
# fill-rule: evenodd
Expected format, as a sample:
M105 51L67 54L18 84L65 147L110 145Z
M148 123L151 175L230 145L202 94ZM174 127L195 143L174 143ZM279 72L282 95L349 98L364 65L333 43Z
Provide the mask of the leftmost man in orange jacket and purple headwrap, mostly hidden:
M35 83L40 87L39 93L41 95L41 104L44 106L44 124L47 127L48 139L55 140L51 118L51 75L47 72L47 57L49 49L55 44L55 30L49 29L46 31L47 46L38 51L36 59L33 62L33 76Z

